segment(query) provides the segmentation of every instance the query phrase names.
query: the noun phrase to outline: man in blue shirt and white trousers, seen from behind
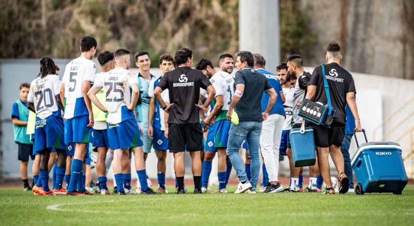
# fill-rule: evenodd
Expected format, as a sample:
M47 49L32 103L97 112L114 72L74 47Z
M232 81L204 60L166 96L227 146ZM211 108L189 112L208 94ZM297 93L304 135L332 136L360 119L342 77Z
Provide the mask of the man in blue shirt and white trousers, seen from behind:
M264 74L267 81L272 85L277 95L273 109L269 113L267 120L263 121L262 135L260 135L260 147L262 149L263 164L266 163L266 171L269 177L269 185L265 193L274 193L283 190L282 185L278 182L279 173L279 147L282 137L283 124L286 113L283 104L285 95L283 95L282 85L277 76L264 69L266 61L260 54L255 54L254 68ZM262 94L262 112L264 113L269 103L269 95L265 92Z

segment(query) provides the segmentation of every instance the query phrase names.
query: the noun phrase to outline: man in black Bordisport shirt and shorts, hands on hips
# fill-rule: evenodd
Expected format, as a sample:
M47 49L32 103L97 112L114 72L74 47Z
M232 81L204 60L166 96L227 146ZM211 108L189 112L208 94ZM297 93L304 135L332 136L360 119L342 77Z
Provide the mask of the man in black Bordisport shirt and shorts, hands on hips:
M200 188L200 150L203 149L200 112L205 112L205 109L213 101L216 91L201 71L191 69L193 66L193 51L191 49L179 49L174 58L178 67L164 74L154 90L154 96L160 108L169 113L168 143L170 153L174 153L174 169L178 181L177 194L185 193L183 186L186 170L184 165L186 148L192 159L194 193L200 194L202 193ZM171 103L168 106L161 96L161 92L167 88ZM200 88L209 91L209 96L203 105L199 105Z

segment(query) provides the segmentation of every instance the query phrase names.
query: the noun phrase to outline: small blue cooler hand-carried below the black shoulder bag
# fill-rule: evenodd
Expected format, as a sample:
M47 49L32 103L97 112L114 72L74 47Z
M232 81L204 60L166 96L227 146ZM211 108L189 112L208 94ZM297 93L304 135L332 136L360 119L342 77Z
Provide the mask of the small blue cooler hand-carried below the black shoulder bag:
M295 167L313 166L316 162L315 141L312 127L302 123L301 128L290 130L290 145L292 146L293 164Z

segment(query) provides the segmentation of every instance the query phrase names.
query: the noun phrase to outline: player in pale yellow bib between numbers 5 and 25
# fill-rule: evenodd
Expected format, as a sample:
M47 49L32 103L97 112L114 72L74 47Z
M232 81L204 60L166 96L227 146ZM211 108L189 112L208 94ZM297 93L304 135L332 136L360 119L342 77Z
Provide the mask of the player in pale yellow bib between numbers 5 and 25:
M95 74L95 82L100 83L105 76L105 73L115 68L115 60L113 58L113 53L109 51L104 51L98 55L98 62L101 66L102 72ZM96 96L99 102L106 107L106 96L104 90L101 89ZM107 195L110 194L108 187L106 186L106 165L105 159L106 154L109 148L108 133L106 129L106 113L99 110L95 104L92 103L92 110L94 112L94 131L92 133L92 145L97 148L98 159L96 162L96 169L98 173L98 183L97 186L101 188L101 194Z

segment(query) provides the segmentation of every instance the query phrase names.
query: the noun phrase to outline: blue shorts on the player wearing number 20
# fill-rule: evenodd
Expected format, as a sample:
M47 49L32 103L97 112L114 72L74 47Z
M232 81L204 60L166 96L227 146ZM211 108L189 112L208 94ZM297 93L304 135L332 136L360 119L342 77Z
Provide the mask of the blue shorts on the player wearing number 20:
M52 147L64 150L66 145L63 141L62 118L53 115L45 119L36 117L35 140L35 152L40 153L41 150Z

